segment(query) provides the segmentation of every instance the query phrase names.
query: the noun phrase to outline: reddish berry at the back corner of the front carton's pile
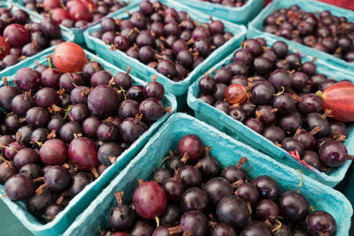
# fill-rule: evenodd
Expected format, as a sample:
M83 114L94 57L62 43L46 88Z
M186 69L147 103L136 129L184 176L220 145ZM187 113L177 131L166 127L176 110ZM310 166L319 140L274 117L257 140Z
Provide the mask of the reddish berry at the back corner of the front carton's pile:
M187 154L189 161L196 161L203 155L203 141L195 134L188 134L181 138L178 143L178 151L181 155Z

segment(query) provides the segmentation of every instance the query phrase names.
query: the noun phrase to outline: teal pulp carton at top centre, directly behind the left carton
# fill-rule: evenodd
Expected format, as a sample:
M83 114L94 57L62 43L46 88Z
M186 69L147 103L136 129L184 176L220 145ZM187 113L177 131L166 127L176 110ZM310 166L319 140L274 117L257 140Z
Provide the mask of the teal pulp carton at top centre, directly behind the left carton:
M155 1L151 1L155 2ZM183 4L180 4L173 0L162 0L160 1L168 7L173 7L176 11L187 11L190 17L194 20L198 20L199 23L208 22L210 17L202 12L196 11L194 9L189 8ZM139 10L139 4L135 4L132 7L129 7L127 11L135 12ZM112 15L114 19L127 19L127 12L115 13ZM139 60L128 57L127 54L118 49L112 50L110 49L110 45L105 44L101 39L97 39L91 36L91 33L96 30L100 30L101 26L98 24L94 27L89 27L89 29L84 33L86 44L89 49L95 50L98 56L103 57L105 60L111 62L113 65L117 65L120 68L126 68L129 65L131 69L131 73L142 78L142 80L150 81L151 76L154 74L158 74L158 78L161 78L159 81L165 87L165 90L177 97L178 101L178 109L181 110L187 99L187 90L189 86L195 81L200 75L206 72L212 65L215 65L219 62L220 59L226 57L233 49L235 49L235 45L239 45L240 42L244 39L246 34L246 28L243 26L237 26L227 21L223 21L225 25L225 30L234 34L234 37L227 41L224 45L219 47L219 49L215 49L212 54L207 57L203 63L196 66L192 72L189 73L184 80L174 82L173 80L168 79L163 74L159 73L157 70L151 68L148 65L142 64Z

